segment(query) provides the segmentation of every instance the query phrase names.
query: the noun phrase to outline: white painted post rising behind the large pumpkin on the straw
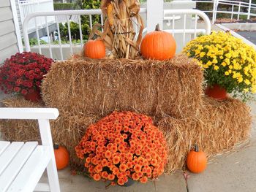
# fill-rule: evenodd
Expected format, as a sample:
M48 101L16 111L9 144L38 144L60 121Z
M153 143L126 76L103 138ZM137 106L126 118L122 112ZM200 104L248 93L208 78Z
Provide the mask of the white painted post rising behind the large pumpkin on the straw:
M154 31L157 24L162 29L164 19L164 1L148 0L147 1L147 31Z

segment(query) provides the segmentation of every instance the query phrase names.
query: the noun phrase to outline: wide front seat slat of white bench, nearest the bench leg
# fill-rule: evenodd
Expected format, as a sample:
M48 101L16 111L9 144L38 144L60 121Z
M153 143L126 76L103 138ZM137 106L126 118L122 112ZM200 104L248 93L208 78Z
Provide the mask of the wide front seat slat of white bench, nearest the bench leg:
M39 182L45 167L50 161L50 149L48 146L38 145L31 154L26 164L20 170L7 192L30 192Z

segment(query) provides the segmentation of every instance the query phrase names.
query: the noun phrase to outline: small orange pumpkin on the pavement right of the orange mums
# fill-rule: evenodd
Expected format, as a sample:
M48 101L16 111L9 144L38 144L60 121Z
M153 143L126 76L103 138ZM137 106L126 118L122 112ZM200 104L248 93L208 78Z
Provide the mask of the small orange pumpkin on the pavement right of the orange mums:
M191 150L187 155L187 168L190 172L200 173L206 169L206 164L206 153L198 150L198 146L195 145L195 150Z

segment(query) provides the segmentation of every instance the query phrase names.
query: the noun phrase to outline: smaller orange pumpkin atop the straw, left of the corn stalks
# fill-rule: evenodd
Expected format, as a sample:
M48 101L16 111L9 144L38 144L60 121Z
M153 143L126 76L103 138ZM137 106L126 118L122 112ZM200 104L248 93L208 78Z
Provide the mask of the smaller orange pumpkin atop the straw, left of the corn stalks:
M105 58L106 48L102 39L89 40L83 45L84 55L88 58Z

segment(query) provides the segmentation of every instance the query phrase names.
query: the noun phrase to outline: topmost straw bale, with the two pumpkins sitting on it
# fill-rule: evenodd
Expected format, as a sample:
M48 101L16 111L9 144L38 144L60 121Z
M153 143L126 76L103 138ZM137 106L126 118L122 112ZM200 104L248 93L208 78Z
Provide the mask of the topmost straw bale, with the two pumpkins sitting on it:
M200 67L185 55L170 61L69 60L52 66L42 98L47 106L74 113L130 110L183 118L198 110L202 81Z

